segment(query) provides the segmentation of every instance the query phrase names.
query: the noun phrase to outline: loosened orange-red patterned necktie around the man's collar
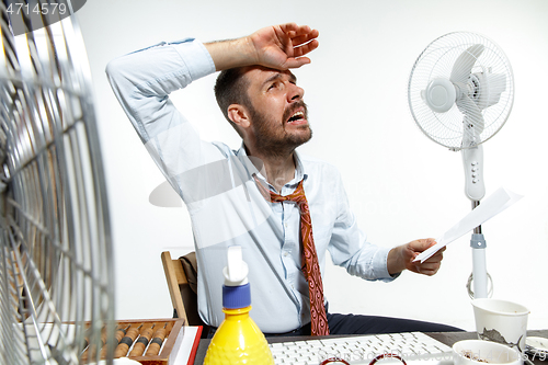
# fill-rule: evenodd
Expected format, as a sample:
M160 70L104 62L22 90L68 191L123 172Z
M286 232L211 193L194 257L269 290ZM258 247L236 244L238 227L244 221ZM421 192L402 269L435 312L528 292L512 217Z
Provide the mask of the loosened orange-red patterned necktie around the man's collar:
M256 179L256 185L262 191L263 195L266 193L265 186ZM312 335L328 335L329 326L326 316L326 307L323 305L323 285L321 282L320 264L318 263L318 254L312 237L312 220L310 218L310 210L308 202L305 196L305 189L302 187L302 180L295 189L293 194L282 196L272 191L270 193L272 203L281 202L295 202L300 210L300 241L302 244L302 272L308 282L308 293L310 296L310 324L312 328Z

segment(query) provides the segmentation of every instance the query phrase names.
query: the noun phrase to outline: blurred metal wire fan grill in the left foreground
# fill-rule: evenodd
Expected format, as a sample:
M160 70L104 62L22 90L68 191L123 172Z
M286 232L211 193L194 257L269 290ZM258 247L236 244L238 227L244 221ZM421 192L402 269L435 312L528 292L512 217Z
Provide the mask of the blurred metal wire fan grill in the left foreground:
M75 16L13 36L7 3L0 3L0 363L96 362L93 349L114 333L113 267L83 41Z

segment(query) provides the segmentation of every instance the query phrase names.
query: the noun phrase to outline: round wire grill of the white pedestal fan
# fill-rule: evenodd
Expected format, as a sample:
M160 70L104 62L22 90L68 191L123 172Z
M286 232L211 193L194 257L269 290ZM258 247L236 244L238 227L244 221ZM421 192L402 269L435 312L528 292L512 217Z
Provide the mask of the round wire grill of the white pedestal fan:
M469 48L475 45L483 46L479 57L469 52ZM472 146L463 145L464 128L460 109L455 104L447 112L434 112L426 105L422 95L433 80L452 77L455 60L464 53L473 58L471 75L478 76L476 79L475 77L468 78L466 85L466 92L475 102L478 103L480 98L486 96L481 95L482 90L479 88L480 75L505 76L505 80L502 80L503 84L500 85L500 89L504 90L499 94L500 100L492 105L483 105L484 107L481 109L486 123L482 130L478 130L478 139ZM416 59L409 79L408 99L414 121L429 138L455 151L476 147L502 128L512 110L514 80L510 61L498 45L483 36L467 32L446 34L432 42Z

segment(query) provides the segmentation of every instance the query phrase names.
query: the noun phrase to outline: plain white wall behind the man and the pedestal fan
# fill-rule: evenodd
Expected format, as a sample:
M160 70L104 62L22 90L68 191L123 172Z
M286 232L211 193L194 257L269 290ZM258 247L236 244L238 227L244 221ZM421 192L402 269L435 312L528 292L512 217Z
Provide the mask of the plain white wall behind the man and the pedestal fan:
M525 195L483 225L494 297L530 309L529 329L548 328L548 1L90 0L78 12L94 82L115 248L116 318L171 316L160 252L193 249L186 209L148 201L162 183L105 78L109 60L156 44L238 37L295 21L320 31L312 65L296 71L315 132L301 151L335 163L372 242L396 246L436 237L470 209L460 155L427 139L407 104L411 67L436 37L487 35L512 62L513 112L484 145L488 195L499 186ZM215 76L173 95L202 137L240 141L213 95ZM391 284L328 266L331 311L446 322L473 330L465 284L469 236L453 242L434 277L403 274ZM219 288L220 289L220 288Z

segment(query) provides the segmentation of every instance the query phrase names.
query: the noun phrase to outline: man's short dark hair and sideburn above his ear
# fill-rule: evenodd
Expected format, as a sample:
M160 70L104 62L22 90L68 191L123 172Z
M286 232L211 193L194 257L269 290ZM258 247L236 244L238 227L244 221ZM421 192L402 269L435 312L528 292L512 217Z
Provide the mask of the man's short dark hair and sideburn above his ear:
M248 109L251 109L251 100L248 94L249 80L246 77L246 68L237 67L228 70L222 70L217 77L215 83L215 98L217 99L217 104L222 112L222 115L232 125L232 127L238 132L240 137L242 134L236 123L230 121L228 117L228 106L231 104L240 104Z

